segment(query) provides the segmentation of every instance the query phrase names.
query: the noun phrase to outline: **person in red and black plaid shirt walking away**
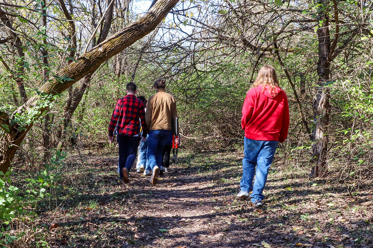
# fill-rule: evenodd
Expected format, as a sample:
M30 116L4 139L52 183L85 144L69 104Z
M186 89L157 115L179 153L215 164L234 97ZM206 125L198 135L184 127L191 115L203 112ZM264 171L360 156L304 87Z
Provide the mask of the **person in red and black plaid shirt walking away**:
M137 86L127 83L127 95L117 101L109 124L109 140L113 140L114 128L117 125L117 142L119 144L119 177L128 183L128 175L135 162L137 147L140 142L139 125L141 120L142 141L146 139L148 127L145 123L145 108L142 101L136 98Z

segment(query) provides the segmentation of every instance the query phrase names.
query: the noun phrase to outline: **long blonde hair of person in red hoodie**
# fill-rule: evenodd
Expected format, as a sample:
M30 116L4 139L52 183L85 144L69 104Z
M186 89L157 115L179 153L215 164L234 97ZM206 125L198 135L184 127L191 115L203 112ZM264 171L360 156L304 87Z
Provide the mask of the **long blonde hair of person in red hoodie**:
M280 86L275 67L266 64L260 68L258 76L251 86L251 89L258 87L259 85L263 86L263 92L264 89L267 88L272 96L277 95L277 88L280 88Z

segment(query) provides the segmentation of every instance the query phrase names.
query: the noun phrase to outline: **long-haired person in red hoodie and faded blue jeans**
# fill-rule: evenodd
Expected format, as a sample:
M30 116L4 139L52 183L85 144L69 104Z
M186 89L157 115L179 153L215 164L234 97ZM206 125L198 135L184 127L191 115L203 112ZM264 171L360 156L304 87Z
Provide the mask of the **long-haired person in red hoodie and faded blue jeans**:
M263 190L278 142L284 142L289 130L288 99L279 86L273 66L261 67L247 92L241 127L245 130L245 149L241 188L237 197L245 199L252 190L251 202L259 207L263 205Z

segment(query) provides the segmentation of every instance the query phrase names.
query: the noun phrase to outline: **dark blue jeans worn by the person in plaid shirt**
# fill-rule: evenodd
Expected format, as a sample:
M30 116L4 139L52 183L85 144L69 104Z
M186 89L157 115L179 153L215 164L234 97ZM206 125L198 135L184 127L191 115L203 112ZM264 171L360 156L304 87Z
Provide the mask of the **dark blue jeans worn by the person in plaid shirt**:
M119 145L119 177L122 178L122 169L126 167L128 171L131 171L131 167L135 162L137 155L137 147L140 142L138 136L120 136L117 135L117 142Z

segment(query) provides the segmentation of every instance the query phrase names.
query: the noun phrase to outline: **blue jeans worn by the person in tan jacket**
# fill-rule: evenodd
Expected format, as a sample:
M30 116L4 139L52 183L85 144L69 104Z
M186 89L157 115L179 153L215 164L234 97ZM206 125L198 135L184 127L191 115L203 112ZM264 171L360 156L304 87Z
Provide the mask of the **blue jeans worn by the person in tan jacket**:
M147 159L150 163L151 170L154 166L160 167L162 164L162 151L169 136L172 135L171 130L153 130L149 133Z

